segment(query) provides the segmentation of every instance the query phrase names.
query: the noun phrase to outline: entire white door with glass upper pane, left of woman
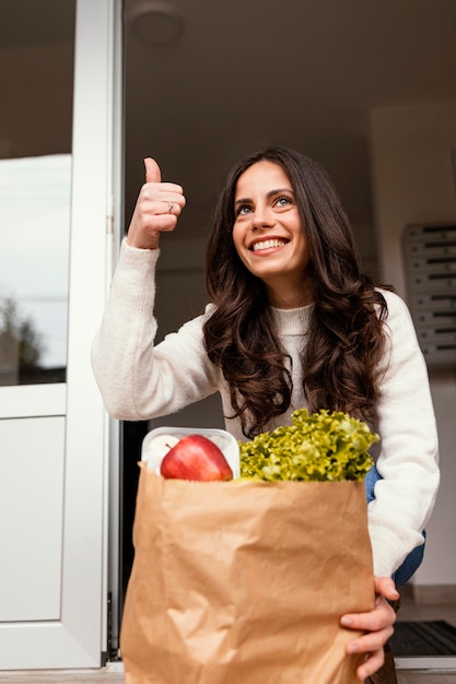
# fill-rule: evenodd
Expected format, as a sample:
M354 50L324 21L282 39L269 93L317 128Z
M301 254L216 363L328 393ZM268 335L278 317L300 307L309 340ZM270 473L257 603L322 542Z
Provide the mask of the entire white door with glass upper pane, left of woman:
M3 5L0 669L93 668L109 473L90 349L118 185L120 2Z

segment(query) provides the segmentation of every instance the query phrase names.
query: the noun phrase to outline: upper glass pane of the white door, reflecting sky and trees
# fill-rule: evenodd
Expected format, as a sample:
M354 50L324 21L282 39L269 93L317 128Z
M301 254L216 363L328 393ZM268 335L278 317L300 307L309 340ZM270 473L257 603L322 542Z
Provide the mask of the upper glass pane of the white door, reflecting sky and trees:
M74 11L0 9L0 385L66 379Z

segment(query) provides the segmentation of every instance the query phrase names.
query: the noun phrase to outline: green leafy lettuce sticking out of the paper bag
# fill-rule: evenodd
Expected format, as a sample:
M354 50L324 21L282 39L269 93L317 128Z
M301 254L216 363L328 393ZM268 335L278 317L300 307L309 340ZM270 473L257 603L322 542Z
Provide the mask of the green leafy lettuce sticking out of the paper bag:
M348 413L299 409L292 425L241 443L241 476L254 480L330 481L364 479L374 464L369 448L378 441L366 423Z

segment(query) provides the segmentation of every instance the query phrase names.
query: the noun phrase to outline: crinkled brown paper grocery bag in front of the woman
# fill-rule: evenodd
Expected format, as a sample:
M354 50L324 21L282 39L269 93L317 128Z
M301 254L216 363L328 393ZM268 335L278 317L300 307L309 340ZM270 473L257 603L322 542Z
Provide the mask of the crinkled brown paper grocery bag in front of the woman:
M120 648L128 684L359 684L374 606L362 482L186 482L145 463Z

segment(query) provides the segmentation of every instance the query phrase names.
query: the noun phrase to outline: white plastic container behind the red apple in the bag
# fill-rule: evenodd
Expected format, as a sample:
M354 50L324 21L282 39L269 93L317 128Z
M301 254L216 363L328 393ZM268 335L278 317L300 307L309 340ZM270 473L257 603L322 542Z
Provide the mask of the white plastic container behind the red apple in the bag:
M160 465L165 453L168 451L166 446L166 437L179 440L185 435L202 435L208 439L211 439L222 451L231 470L233 471L233 479L241 475L239 463L239 447L237 440L224 429L217 427L155 427L151 429L142 440L141 460L147 461L149 468L154 470L160 475ZM155 440L152 446L152 440ZM174 441L174 439L169 441ZM172 445L173 446L173 445Z

